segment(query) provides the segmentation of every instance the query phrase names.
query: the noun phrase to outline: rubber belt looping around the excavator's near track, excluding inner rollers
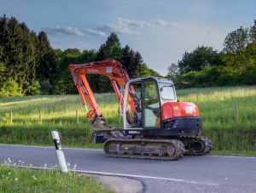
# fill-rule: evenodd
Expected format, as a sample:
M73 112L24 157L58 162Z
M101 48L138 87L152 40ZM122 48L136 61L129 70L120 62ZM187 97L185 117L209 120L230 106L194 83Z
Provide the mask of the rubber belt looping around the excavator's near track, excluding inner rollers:
M110 153L109 152L109 145L111 143L124 143L124 142L145 142L145 143L155 143L156 145L172 145L174 147L175 152L172 154L172 156L152 156L150 154L147 155L140 155L140 154L118 154L118 153ZM110 157L121 157L121 158L135 158L135 159L149 159L149 160L165 160L165 161L174 161L178 160L183 157L185 152L185 147L183 143L178 139L108 139L104 143L104 151L107 154L107 156Z

